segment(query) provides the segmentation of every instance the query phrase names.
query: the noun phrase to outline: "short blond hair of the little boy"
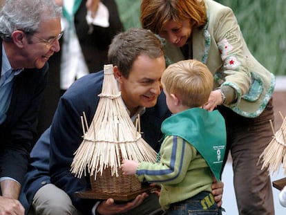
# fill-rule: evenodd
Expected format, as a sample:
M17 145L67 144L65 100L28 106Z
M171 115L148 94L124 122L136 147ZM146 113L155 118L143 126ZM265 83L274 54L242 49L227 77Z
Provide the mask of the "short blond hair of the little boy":
M213 75L196 59L171 64L164 71L161 82L167 93L173 93L189 107L207 103L213 89Z

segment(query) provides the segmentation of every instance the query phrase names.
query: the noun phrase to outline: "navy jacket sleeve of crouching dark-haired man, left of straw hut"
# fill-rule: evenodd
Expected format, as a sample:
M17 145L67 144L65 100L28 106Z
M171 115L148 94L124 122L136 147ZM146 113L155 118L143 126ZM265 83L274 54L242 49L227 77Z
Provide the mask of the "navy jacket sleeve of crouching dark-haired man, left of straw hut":
M70 172L70 165L73 162L75 151L83 140L80 120L83 111L86 113L88 124L93 120L101 85L98 87L100 91L95 91L97 82L90 77L98 75L99 73L86 75L70 86L59 100L50 131L51 182L66 191L73 205L84 214L90 213L96 201L84 200L75 196L75 191L89 189L90 183L88 177L75 177Z

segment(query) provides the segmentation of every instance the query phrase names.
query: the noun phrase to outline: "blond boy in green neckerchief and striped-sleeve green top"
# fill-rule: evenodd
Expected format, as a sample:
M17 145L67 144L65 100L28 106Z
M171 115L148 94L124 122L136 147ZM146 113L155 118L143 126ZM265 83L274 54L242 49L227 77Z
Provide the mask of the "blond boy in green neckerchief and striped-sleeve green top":
M218 111L202 109L212 91L213 76L207 66L190 59L171 64L161 82L173 115L162 123L164 141L158 162L123 160L122 171L160 185L160 205L168 214L188 210L220 214L211 183L213 175L220 180L225 120Z

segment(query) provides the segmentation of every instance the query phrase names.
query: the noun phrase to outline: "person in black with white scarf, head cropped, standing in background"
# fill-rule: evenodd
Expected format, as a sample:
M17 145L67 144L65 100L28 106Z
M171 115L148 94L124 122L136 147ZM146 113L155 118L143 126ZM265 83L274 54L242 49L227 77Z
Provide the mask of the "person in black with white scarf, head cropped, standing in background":
M61 51L49 59L50 71L53 71L53 73L49 74L48 84L44 91L45 99L42 100L39 110L39 135L50 126L60 95L66 91L74 80L82 75L102 70L104 64L107 63L107 51L111 39L123 30L114 0L82 0L76 5L77 0L74 8L74 10L76 8L77 10L74 14L70 14L66 4L73 4L72 2L70 0L57 0L57 3L63 5L64 8L65 16L62 19L64 36L61 39ZM108 14L101 12L102 10L107 10ZM93 13L95 17L92 17ZM73 17L67 18L69 15ZM93 22L88 23L87 15L89 16L88 21ZM99 18L100 21L104 20L103 24L97 21ZM73 24L70 24L68 20L73 20ZM71 30L71 32L68 30ZM77 42L70 41L68 37L73 33L77 37L73 38L78 39L79 44L79 51L76 53L74 53L75 47L71 48L68 45L68 41L70 44L77 44Z

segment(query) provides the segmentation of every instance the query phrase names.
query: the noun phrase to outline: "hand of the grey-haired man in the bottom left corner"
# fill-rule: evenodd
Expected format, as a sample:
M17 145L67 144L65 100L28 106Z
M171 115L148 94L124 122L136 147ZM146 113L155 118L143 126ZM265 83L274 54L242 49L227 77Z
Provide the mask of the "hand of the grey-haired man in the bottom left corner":
M24 215L25 209L19 200L0 196L0 215L8 214Z

